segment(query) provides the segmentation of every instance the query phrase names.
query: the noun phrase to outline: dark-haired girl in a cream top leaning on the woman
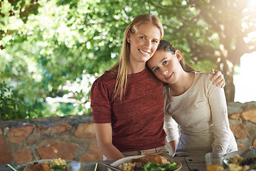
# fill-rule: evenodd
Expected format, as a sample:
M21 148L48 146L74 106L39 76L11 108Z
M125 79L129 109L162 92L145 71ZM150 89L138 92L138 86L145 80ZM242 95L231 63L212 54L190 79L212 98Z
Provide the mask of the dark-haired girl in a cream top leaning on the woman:
M181 52L164 40L147 65L159 80L168 83L163 89L164 128L175 155L238 150L228 123L224 90L209 82L210 73L193 71ZM174 120L180 126L179 138Z

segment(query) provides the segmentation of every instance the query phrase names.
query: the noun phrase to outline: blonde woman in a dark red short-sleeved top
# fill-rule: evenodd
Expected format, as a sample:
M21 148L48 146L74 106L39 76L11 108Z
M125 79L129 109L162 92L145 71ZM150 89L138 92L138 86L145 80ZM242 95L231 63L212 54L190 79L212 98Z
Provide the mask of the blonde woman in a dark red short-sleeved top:
M163 36L156 16L137 16L124 33L117 63L92 85L93 122L105 160L150 154L170 157L163 128L163 83L145 66ZM225 85L220 72L215 78Z

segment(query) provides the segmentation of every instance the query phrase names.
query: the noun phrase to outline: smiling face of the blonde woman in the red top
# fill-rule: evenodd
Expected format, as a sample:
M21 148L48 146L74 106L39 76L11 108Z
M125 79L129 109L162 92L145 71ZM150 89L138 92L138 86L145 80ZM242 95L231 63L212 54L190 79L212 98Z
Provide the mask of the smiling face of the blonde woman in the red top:
M153 56L161 38L158 27L152 24L141 24L134 33L129 33L127 40L130 43L130 62L143 62Z

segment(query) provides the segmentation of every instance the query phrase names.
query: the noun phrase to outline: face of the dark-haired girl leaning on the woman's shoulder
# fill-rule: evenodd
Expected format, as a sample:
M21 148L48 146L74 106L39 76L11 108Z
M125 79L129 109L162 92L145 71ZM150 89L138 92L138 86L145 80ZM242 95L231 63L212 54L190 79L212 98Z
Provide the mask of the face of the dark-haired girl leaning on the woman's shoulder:
M147 65L159 80L173 84L176 83L182 69L180 60L181 54L178 50L175 51L175 54L159 50L147 61Z

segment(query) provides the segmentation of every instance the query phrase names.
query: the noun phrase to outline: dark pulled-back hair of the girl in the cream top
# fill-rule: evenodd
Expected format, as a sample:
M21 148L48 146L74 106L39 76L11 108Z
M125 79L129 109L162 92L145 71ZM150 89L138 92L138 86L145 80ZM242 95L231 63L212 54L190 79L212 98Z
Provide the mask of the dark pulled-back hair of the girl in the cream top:
M166 51L166 52L171 52L172 54L175 54L175 51L177 50L176 48L174 48L174 46L171 45L171 43L169 43L169 41L166 41L164 39L162 39L159 43L159 46L156 48L156 51L159 51L159 50L163 50L163 51ZM193 71L195 71L193 68L191 68L190 66L188 66L184 59L181 58L181 67L183 68L183 70L187 73L191 73Z

